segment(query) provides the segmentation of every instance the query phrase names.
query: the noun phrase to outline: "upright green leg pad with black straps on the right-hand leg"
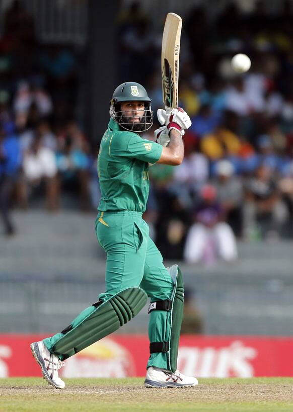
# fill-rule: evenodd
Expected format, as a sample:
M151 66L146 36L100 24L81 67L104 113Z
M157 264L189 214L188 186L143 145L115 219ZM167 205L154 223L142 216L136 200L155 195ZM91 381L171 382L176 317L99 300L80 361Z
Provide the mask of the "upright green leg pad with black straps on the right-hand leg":
M165 336L165 339L163 338L162 342L150 343L150 353L166 352L168 368L174 373L177 369L178 346L183 318L184 284L178 265L173 265L167 269L174 282L171 299L152 302L149 307L149 313L153 310L165 310L170 312L171 316L168 316L167 318L169 318L171 327L165 328L166 335L168 336Z

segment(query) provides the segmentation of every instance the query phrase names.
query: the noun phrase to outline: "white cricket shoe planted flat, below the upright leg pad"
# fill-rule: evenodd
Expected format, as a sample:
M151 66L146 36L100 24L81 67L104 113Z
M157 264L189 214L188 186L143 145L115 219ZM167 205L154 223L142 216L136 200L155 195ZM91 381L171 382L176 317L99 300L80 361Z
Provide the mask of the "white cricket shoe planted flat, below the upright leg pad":
M186 388L196 386L198 381L193 376L185 376L177 369L174 373L150 366L146 372L144 386L147 388Z

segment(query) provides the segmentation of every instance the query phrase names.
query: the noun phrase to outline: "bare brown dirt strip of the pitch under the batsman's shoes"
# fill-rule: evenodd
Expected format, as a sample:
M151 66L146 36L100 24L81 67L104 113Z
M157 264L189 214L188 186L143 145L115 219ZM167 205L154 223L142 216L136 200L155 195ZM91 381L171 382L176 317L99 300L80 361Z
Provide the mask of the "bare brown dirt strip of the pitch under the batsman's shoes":
M91 395L104 402L253 402L253 401L293 401L292 384L226 384L226 385L199 385L194 388L164 388L151 389L143 386L117 385L115 387L91 386L89 388L78 385L67 385L66 389L54 389L50 386L40 387L0 387L0 399L7 397L30 397L57 395L66 398L75 394L75 398L82 399ZM86 399L86 398L85 398Z

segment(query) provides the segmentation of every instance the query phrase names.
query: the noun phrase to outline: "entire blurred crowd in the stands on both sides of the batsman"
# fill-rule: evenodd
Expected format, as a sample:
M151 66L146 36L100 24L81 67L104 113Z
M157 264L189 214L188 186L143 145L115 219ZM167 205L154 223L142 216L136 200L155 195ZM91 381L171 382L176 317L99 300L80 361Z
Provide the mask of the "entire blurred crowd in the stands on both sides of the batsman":
M278 2L272 13L264 1L251 10L242 3L210 15L202 2L182 15L179 105L192 126L181 166L150 168L144 216L166 258L235 261L237 239L293 237L292 6ZM152 19L139 2L118 14L117 84L144 85L156 113L162 107L164 21L155 27ZM100 194L97 148L75 120L78 57L62 45L41 47L20 2L4 20L0 203L12 234L12 198L27 208L42 193L47 208L57 210L65 191L74 190L80 208L93 210ZM233 71L236 53L251 58L248 73ZM153 139L157 127L143 137Z

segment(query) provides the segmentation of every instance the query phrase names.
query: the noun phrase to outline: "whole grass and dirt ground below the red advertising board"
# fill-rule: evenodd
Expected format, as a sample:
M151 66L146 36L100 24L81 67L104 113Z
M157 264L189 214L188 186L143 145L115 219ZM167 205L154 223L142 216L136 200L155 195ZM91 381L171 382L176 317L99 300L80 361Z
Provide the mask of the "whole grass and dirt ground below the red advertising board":
M146 389L143 378L0 379L0 411L291 412L293 378L199 379L198 387Z

